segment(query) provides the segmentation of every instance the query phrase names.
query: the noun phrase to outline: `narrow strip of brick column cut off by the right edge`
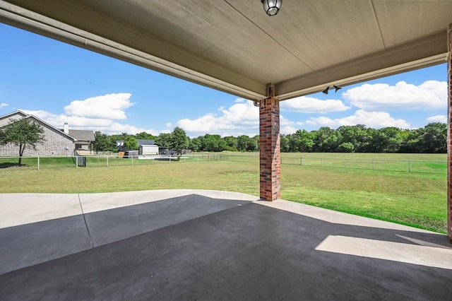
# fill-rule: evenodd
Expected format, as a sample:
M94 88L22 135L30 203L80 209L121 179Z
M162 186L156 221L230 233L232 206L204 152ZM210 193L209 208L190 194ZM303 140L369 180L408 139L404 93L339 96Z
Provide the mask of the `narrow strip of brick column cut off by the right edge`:
M448 105L447 105L447 232L452 243L452 24L448 30L449 56L447 59Z

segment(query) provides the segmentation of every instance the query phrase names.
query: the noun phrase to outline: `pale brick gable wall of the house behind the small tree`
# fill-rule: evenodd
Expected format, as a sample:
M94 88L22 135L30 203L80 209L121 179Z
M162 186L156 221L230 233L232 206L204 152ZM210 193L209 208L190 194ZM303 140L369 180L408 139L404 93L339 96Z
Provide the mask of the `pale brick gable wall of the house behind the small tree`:
M35 121L37 122L37 121ZM41 124L44 129L45 141L42 144L37 144L36 151L33 148L25 148L24 156L52 156L52 155L72 155L75 148L75 143L65 136L61 131L52 129ZM67 149L66 149L67 148ZM6 146L0 146L1 156L18 156L19 147L11 143Z

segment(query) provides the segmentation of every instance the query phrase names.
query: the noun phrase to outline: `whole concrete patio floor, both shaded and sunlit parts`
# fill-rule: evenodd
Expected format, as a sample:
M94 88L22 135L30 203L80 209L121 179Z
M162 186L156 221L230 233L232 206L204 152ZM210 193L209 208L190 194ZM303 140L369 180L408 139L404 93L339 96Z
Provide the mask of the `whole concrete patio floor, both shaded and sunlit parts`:
M205 190L1 194L0 300L451 300L446 235Z

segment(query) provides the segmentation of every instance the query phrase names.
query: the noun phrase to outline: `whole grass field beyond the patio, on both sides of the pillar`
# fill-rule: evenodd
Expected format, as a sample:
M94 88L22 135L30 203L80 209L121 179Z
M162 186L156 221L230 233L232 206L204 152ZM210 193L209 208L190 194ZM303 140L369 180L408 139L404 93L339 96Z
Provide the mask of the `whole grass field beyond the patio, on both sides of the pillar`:
M310 156L347 160L446 160L446 155L327 155L331 154L282 154L283 158ZM348 157L345 157L346 155ZM245 157L242 159L190 158L172 163L133 160L132 165L131 160L111 158L107 167L105 158L88 158L88 167L75 168L71 158L40 158L41 170L37 170L35 158L24 158L23 163L27 164L25 167L16 167L0 160L0 191L88 193L148 189L215 189L258 196L257 160ZM429 164L433 166L436 163ZM433 167L434 172L407 172L352 168L350 165L347 168L338 168L283 164L282 198L446 232L446 167Z

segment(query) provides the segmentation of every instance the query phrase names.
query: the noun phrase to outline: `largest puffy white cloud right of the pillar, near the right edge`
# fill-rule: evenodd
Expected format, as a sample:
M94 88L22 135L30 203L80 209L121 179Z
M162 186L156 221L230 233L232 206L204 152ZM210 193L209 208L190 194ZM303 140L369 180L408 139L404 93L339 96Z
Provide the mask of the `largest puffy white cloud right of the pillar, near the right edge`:
M447 107L447 83L425 81L412 85L399 81L396 85L366 83L343 93L351 105L367 110L437 110Z

